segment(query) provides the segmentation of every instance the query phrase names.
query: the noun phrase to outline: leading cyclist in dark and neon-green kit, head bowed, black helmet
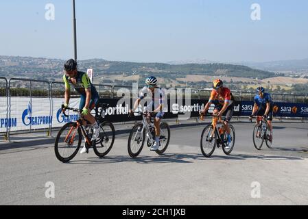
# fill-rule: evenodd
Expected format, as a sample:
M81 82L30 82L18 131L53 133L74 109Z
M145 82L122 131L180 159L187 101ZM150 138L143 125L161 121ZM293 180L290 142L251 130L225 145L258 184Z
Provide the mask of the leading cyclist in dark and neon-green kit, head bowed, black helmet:
M77 70L77 62L71 59L64 64L63 81L65 83L65 103L64 110L69 106L71 85L80 94L79 108L82 111L82 118L84 118L84 124L90 123L94 127L92 140L95 140L99 136L100 127L97 124L94 116L90 114L91 110L97 105L99 100L99 94L95 87L91 83L88 75L82 71ZM80 153L86 153L86 146Z

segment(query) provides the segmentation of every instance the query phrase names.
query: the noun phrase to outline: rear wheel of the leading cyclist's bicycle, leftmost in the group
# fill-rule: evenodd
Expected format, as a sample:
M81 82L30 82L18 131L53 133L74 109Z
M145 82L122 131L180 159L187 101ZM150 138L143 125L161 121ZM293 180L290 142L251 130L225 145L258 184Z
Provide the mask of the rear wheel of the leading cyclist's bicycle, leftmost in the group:
M98 157L106 156L111 150L115 142L115 127L108 121L103 122L101 125L99 137L95 140L93 151Z

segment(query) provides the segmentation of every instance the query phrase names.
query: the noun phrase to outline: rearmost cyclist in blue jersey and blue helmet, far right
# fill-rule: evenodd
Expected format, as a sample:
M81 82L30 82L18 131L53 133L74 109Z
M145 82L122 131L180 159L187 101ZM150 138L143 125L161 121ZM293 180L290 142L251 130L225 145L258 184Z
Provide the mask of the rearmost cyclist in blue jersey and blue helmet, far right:
M256 89L257 95L254 96L254 107L252 109L252 114L250 119L257 112L257 116L262 116L263 118L268 119L268 126L270 127L270 131L272 133L272 119L273 119L273 104L272 97L270 94L265 93L265 89L263 87L259 87ZM260 121L257 120L257 124L259 125ZM270 141L272 141L272 136L270 136Z

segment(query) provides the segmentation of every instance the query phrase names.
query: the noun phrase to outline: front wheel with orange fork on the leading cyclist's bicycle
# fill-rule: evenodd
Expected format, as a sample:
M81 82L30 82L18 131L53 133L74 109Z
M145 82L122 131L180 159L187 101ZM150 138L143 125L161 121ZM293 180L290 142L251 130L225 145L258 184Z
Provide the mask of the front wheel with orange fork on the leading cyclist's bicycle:
M78 142L76 142L78 140ZM69 162L80 149L82 133L77 123L65 124L56 137L55 153L60 162Z

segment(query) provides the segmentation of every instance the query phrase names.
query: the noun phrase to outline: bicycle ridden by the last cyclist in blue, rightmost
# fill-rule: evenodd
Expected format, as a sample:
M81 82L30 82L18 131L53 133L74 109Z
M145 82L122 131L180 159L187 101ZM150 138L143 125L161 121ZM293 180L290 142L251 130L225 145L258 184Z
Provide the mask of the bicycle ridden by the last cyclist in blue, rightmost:
M268 125L268 120L266 118L262 118L262 116L257 116L257 121L259 124L254 126L253 132L252 132L252 140L254 143L254 147L257 150L261 150L263 146L263 142L265 141L266 146L268 146L269 149L272 148L272 137L273 132L270 131L270 127ZM252 122L252 119L250 118L250 122Z

